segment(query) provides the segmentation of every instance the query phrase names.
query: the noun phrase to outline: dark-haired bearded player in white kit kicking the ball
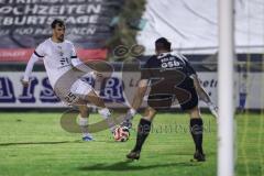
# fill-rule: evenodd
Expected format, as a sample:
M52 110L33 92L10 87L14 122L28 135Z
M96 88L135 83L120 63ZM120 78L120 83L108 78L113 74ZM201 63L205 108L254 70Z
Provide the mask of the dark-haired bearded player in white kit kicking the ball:
M77 77L85 75L84 73L87 72L94 73L94 76L97 77L101 77L102 75L80 62L76 55L73 43L64 40L64 21L59 19L54 20L52 30L52 37L41 43L32 54L21 82L28 87L34 64L37 61L43 61L48 80L56 96L58 96L62 101L78 107L78 124L82 132L82 140L92 141L94 139L87 129L89 116L87 102L97 106L99 109L98 112L103 119L109 119L111 113L105 106L102 99L95 92L94 88ZM76 72L75 68L80 72ZM111 131L113 131L113 125L110 125Z

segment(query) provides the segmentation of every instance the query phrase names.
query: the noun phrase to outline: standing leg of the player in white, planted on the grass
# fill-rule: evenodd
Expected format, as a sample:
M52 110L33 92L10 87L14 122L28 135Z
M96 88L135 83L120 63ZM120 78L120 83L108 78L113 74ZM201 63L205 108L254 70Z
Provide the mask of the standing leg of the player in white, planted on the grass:
M92 141L94 138L88 131L89 111L88 111L87 105L81 103L78 106L78 109L79 109L78 124L82 133L82 141Z

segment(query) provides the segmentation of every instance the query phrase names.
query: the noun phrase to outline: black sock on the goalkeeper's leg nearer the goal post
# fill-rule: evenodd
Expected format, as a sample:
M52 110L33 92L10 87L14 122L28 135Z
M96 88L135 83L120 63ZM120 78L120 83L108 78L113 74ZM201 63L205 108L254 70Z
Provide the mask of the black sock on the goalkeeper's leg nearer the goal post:
M190 133L193 135L196 151L204 154L202 151L202 119L190 119Z

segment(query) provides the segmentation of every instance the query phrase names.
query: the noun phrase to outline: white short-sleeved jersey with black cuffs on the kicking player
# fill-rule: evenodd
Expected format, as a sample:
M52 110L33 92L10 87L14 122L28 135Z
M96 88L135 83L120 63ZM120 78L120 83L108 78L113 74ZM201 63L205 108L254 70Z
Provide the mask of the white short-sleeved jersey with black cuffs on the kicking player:
M55 43L52 38L41 43L34 55L42 58L52 87L65 73L72 69L72 59L77 58L74 44L69 41Z

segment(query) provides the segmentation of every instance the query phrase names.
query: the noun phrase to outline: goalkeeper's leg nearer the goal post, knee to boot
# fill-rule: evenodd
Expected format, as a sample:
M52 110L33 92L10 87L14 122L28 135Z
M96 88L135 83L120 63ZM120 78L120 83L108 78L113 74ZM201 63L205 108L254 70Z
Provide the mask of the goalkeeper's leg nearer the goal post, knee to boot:
M198 162L204 162L206 160L204 150L202 150L204 123L202 123L202 119L200 116L200 110L196 106L195 108L187 110L187 112L190 116L190 133L191 133L193 140L195 142L195 146L196 146L196 152L195 152L194 157Z

